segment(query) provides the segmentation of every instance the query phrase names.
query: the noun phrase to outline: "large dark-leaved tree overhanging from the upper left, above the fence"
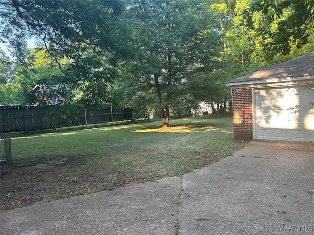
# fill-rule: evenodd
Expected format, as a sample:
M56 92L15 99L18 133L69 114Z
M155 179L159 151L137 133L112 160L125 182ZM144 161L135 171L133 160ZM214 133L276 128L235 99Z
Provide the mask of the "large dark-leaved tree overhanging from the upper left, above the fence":
M25 62L21 52L26 40L35 37L64 74L55 76L53 85L79 91L85 105L106 101L115 63L125 53L122 31L116 30L123 1L0 0L0 4L0 41L10 45L18 62ZM72 62L67 67L58 60L63 55Z

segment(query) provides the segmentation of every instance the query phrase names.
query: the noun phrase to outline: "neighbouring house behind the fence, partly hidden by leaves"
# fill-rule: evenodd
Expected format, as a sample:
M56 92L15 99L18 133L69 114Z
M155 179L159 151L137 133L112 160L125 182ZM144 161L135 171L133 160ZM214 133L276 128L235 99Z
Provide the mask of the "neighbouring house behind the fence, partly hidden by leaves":
M63 97L61 95L56 94L58 89L60 88L59 85L36 85L33 88L33 92L35 93L35 95L37 96L37 99L39 99L40 101L43 101L44 103L46 103L47 105L55 105L58 103L63 103ZM52 95L52 94L55 95ZM54 98L51 99L47 96L53 96ZM38 105L39 103L35 103L33 105Z

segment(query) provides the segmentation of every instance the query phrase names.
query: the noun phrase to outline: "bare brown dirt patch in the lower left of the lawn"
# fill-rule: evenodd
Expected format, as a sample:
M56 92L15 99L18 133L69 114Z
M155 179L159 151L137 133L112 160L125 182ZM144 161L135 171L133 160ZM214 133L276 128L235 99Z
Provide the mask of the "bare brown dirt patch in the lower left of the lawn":
M97 175L73 176L69 165L71 163L66 158L40 163L1 164L0 210L146 182L146 179L119 173L106 174L106 179L99 179Z

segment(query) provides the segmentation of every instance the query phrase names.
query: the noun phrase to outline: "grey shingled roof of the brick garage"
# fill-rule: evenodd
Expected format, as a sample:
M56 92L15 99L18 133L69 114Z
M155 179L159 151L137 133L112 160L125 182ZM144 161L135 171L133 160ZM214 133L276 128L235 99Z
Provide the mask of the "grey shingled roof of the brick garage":
M314 79L314 52L238 77L227 86Z

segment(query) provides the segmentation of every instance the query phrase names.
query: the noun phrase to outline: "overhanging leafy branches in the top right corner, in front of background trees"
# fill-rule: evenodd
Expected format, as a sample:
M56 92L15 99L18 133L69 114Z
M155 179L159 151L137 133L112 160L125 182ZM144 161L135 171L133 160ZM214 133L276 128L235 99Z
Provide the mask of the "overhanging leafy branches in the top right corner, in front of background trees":
M252 10L261 12L264 22L268 21L260 35L269 38L264 47L270 56L287 55L292 45L304 46L314 32L313 0L258 0Z

